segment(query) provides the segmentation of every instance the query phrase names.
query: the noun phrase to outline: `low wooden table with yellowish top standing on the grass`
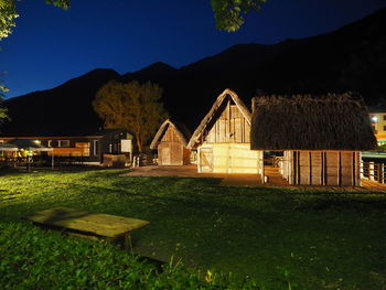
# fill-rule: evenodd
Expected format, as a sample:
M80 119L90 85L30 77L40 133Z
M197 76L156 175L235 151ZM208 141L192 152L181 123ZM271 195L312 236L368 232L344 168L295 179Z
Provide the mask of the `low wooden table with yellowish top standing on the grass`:
M149 225L147 221L108 214L95 214L68 207L55 207L24 216L37 225L61 229L83 237L124 239L124 248L131 247L130 233Z

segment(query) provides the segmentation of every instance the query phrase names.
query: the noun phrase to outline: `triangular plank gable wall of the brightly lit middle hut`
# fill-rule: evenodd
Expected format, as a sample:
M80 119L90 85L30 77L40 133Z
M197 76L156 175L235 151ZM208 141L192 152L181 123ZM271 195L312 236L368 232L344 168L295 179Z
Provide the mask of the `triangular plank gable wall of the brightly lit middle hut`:
M250 126L236 105L228 105L206 135L210 143L249 143Z

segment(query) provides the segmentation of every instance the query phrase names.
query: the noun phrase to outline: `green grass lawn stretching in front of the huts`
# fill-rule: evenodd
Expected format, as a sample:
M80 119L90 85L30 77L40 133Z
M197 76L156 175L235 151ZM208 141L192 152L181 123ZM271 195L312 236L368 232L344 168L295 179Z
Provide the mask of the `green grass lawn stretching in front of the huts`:
M140 255L168 261L173 256L203 272L230 271L266 289L386 289L385 194L221 187L215 179L124 172L2 172L0 230L9 239L29 233L33 239L42 230L21 216L67 206L149 221L135 235ZM45 239L51 236L78 243L52 232ZM10 247L6 240L0 239L0 273L7 255L1 248ZM18 256L17 247L12 255Z

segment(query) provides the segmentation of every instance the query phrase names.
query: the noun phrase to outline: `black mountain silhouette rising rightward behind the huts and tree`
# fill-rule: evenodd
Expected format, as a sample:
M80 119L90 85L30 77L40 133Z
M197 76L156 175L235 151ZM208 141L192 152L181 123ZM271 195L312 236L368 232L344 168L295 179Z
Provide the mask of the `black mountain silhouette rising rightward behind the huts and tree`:
M225 89L250 106L257 92L325 94L358 92L368 106L386 104L386 9L334 32L283 42L238 44L216 55L174 68L154 63L119 75L95 69L65 84L4 101L12 121L1 135L61 135L97 130L101 121L90 106L98 88L111 79L159 84L173 119L191 130Z

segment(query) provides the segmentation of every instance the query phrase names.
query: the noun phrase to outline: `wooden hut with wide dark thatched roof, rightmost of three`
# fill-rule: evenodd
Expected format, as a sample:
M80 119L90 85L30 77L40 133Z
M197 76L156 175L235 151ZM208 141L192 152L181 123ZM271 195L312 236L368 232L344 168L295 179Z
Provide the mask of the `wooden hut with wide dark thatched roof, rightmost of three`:
M360 95L253 100L251 149L283 151L282 175L290 184L361 185L361 151L375 147Z

